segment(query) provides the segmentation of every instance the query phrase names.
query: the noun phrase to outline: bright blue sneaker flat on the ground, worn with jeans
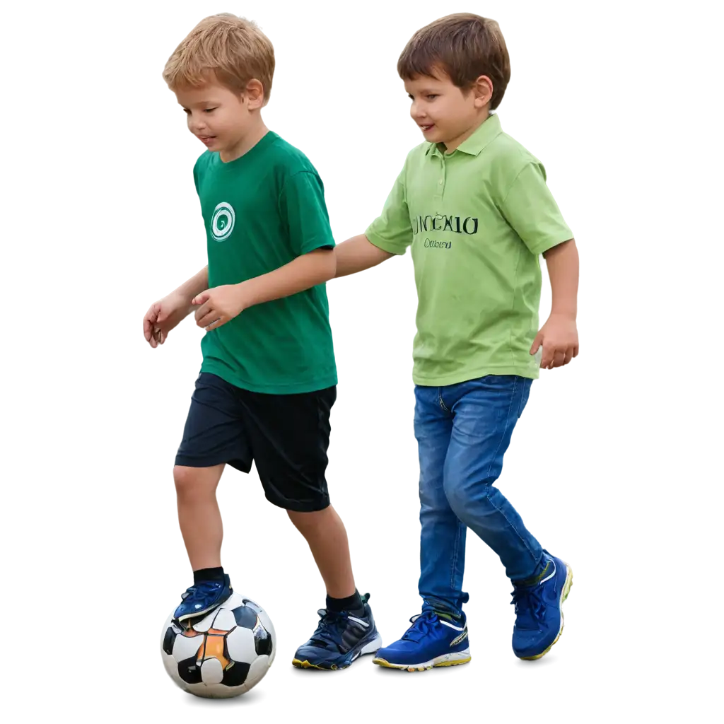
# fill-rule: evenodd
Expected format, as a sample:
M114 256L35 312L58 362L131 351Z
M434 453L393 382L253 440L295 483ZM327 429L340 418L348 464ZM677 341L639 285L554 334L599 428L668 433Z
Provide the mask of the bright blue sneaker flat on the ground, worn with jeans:
M379 649L372 662L382 668L413 672L472 660L468 620L426 611L411 619L402 638Z

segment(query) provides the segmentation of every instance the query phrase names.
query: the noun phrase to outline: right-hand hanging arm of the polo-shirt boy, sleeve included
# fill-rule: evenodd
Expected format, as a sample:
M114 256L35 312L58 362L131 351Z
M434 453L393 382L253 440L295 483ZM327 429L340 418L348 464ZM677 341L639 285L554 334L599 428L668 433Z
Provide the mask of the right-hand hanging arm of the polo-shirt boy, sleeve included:
M548 317L531 346L543 350L542 369L570 363L578 353L578 240L565 222L542 164L530 162L518 173L501 203L502 213L531 253L545 261L550 303Z

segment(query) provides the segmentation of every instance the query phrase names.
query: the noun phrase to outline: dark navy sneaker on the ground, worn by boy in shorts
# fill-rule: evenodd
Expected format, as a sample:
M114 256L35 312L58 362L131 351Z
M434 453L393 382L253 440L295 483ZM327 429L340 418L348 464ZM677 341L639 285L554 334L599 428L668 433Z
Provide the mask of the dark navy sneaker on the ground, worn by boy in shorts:
M300 646L295 647L291 664L297 668L337 671L350 668L358 657L374 654L384 643L376 621L367 608L369 597L364 596L364 613L337 613L320 609L317 627Z

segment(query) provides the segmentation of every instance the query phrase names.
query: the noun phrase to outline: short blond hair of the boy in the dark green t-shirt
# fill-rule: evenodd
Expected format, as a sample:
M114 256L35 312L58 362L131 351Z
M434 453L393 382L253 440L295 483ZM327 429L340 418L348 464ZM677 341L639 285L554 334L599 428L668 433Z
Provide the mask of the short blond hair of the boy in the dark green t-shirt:
M159 63L159 83L178 90L216 80L243 93L258 80L268 98L276 61L273 41L256 22L237 13L205 13Z

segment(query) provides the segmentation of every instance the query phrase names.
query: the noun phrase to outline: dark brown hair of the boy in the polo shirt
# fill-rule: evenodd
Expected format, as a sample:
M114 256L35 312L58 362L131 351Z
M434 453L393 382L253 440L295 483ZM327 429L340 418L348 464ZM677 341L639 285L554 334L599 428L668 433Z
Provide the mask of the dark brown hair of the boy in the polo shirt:
M510 80L508 51L500 30L476 14L442 17L418 30L397 61L405 80L444 72L458 88L469 90L476 79L492 81L490 109L502 104Z

